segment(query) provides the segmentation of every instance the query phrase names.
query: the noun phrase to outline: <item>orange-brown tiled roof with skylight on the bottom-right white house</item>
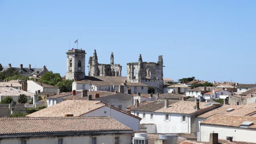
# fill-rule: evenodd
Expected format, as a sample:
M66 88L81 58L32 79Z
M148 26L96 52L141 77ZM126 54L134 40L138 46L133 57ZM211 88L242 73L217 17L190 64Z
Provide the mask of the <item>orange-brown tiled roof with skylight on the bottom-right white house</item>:
M256 117L255 116L232 116L232 115L221 115L217 114L212 118L204 120L201 124L219 125L219 126L232 126L239 127L243 122L254 122L248 128L256 128Z

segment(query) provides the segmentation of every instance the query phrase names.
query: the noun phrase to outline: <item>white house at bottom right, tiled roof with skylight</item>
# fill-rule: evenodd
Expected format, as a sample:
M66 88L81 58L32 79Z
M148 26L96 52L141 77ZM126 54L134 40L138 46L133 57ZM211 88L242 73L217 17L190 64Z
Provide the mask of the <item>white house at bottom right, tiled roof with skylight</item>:
M255 142L255 116L231 116L217 114L201 122L200 141L209 142L212 131L218 133L219 139L232 138L236 141Z

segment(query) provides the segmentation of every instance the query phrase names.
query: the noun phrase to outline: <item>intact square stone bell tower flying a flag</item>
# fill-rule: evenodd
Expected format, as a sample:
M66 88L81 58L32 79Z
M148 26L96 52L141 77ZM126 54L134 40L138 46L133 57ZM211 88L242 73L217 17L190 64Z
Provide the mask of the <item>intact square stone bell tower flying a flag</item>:
M85 50L68 50L66 80L80 80L85 77Z

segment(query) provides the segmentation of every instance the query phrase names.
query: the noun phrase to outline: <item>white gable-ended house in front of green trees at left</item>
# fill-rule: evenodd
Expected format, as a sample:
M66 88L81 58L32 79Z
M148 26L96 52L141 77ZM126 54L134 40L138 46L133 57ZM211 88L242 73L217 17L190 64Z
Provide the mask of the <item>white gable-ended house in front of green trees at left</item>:
M35 91L40 90L40 92L57 92L57 94L60 94L60 88L57 86L51 86L48 84L44 84L41 82L36 82L33 80L28 80L28 92L34 93Z

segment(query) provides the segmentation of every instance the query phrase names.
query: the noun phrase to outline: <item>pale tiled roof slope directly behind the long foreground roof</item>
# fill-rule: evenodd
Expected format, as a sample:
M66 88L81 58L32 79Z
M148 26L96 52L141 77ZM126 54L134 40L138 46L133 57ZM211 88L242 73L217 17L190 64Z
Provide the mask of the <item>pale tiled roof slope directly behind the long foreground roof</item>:
M100 101L89 100L65 100L53 106L44 108L27 117L60 117L65 114L73 114L74 116L82 116L92 110L101 108L104 104L98 104Z

